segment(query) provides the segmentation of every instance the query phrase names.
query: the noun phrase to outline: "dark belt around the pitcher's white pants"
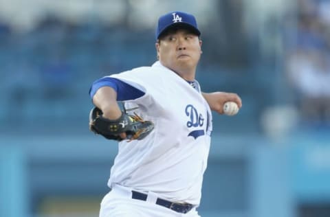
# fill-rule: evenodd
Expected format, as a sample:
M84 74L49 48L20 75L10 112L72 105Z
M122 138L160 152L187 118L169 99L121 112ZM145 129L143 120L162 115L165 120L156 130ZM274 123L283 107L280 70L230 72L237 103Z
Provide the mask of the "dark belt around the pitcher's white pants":
M140 201L146 201L147 196L148 196L147 194L132 191L133 199L140 200ZM190 203L174 203L171 201L166 201L162 198L157 198L156 204L161 205L163 207L167 207L168 209L172 209L175 212L179 212L181 214L186 214L187 212L189 212L192 209L192 207L194 207L194 205L192 205Z

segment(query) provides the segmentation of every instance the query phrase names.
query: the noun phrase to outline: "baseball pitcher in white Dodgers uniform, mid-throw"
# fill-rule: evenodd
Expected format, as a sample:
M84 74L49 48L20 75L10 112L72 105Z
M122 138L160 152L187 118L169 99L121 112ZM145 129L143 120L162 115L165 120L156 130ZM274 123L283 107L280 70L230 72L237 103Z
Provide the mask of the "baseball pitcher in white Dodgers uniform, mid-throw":
M199 216L211 110L222 114L228 101L242 105L235 93L201 92L195 80L200 35L192 14L164 14L155 34L158 60L151 67L92 84L97 110L91 111L91 130L120 141L100 217Z

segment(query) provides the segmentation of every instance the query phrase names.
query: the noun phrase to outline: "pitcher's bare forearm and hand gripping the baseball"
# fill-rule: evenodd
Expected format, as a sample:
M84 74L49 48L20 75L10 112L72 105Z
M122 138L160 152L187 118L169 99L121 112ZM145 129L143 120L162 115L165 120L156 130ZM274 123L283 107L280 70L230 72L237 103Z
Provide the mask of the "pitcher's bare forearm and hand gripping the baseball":
M217 113L223 114L223 104L225 102L231 101L236 102L241 109L242 100L236 93L227 92L212 92L212 93L201 93L203 98L208 102L212 111L217 111Z

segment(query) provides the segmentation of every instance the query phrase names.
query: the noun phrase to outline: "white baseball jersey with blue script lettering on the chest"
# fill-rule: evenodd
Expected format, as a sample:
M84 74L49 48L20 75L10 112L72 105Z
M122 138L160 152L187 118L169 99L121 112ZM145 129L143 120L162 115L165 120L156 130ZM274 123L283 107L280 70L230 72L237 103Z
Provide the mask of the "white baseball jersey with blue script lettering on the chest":
M212 131L212 114L199 84L194 89L158 61L110 77L145 93L126 101L126 108L138 106L135 112L155 128L140 141L120 142L109 187L119 184L199 205Z

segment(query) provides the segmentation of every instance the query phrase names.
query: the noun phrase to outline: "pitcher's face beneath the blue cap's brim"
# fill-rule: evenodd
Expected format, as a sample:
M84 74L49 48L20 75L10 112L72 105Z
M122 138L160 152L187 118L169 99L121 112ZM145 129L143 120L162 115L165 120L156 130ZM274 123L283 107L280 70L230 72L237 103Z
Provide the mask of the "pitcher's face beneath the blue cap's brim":
M196 70L201 56L201 41L188 30L175 30L159 38L156 49L162 65L180 73Z

